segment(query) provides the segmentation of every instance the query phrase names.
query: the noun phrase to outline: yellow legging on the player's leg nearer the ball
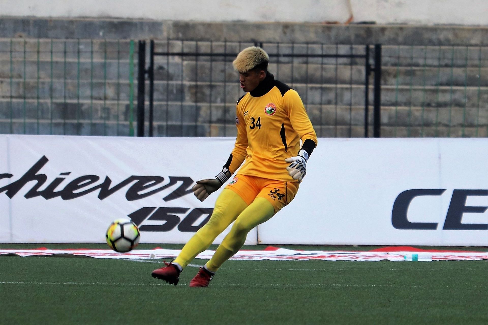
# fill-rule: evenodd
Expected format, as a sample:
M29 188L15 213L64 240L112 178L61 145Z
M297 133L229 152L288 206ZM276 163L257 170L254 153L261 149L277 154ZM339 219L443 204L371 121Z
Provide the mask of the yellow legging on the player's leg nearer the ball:
M236 192L224 189L215 202L208 222L190 238L174 263L185 268L198 254L207 249L246 207L247 204Z

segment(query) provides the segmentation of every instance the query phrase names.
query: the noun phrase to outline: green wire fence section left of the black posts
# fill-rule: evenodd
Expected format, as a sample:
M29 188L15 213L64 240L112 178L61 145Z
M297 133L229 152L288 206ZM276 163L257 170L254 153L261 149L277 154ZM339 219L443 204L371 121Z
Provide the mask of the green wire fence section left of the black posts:
M0 39L0 133L133 135L134 41Z

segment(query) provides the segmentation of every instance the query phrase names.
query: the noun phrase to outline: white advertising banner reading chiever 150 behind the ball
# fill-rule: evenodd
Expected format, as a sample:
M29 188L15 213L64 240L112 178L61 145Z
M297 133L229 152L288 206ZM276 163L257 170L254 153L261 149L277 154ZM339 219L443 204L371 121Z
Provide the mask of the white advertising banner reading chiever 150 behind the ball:
M127 216L140 225L141 242L185 243L218 196L200 202L194 180L214 176L234 145L231 138L0 136L5 141L0 211L2 224L7 211L12 225L0 242L13 243L103 242L109 224ZM256 241L254 229L246 244Z

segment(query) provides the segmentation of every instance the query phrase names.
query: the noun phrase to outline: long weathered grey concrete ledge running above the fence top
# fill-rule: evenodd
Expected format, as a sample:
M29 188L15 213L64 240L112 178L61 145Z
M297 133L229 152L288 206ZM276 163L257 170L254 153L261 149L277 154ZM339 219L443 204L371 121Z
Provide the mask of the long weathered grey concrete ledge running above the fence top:
M3 17L0 37L450 46L488 45L488 27Z

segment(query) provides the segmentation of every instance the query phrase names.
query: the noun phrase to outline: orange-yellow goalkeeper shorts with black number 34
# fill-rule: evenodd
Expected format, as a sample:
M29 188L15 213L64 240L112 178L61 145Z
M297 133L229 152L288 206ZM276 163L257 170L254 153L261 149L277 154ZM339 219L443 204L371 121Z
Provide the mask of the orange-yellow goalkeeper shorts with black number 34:
M276 213L295 198L299 184L237 174L225 188L236 192L247 205L257 197L264 197Z

